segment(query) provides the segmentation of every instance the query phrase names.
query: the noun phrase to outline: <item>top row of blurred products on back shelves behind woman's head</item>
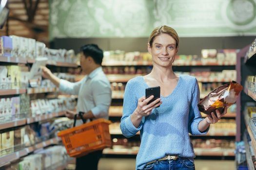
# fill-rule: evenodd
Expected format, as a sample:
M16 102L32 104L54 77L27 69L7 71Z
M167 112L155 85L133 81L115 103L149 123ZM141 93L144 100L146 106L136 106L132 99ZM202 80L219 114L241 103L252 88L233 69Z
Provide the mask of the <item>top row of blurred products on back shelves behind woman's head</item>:
M174 65L235 65L237 50L224 49L203 49L201 55L177 55ZM104 51L103 63L104 65L132 65L132 63L139 63L141 65L150 64L152 57L148 52L125 52L125 51ZM149 62L149 63L147 63Z

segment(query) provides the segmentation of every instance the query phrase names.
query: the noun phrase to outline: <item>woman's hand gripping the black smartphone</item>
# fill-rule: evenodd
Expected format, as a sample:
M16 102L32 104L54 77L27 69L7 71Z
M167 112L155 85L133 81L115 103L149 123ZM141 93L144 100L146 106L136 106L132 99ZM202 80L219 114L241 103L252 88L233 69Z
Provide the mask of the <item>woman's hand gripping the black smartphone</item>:
M142 117L146 117L146 116L150 115L151 111L154 108L158 107L162 103L161 99L158 98L155 101L148 104L148 102L153 98L154 98L154 96L152 95L147 99L145 98L145 96L138 99L138 106L134 112L134 114L138 118L142 118Z

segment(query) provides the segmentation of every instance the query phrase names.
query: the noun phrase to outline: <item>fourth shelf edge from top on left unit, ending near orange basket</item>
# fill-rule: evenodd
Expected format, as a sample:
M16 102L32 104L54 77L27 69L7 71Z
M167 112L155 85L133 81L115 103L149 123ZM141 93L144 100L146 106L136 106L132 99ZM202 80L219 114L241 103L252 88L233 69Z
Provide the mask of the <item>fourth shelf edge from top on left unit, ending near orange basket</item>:
M17 159L20 159L20 157L25 156L31 152L34 152L35 150L38 150L38 149L41 149L41 148L44 148L44 147L47 147L47 146L50 146L53 144L58 144L59 141L60 141L59 137L55 137L55 138L40 142L34 146L21 149L20 151L17 151L15 153L10 153L5 156L1 156L0 157L0 167L6 165L8 162L12 162Z

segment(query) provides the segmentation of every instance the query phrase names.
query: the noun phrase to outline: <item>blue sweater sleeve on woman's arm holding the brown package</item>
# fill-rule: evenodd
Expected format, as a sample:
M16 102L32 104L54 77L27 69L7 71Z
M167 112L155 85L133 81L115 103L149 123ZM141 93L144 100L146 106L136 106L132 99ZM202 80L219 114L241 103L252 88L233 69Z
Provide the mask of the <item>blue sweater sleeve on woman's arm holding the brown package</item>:
M200 92L199 92L199 87L198 87L198 82L197 79L195 78L194 88L192 90L192 101L190 103L190 108L189 108L189 133L193 136L198 136L198 135L205 135L209 131L210 126L204 131L200 132L198 129L198 124L200 121L202 121L201 113L198 110L198 102L200 99Z

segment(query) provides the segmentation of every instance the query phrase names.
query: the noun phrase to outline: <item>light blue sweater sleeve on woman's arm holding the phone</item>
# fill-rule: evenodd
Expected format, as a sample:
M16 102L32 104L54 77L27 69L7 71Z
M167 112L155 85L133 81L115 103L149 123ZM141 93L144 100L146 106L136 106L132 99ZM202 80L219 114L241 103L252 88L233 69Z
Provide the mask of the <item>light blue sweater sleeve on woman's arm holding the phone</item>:
M131 115L138 105L135 87L136 84L132 83L131 81L129 81L125 86L123 97L123 115L120 123L120 129L125 137L136 135L136 133L142 128L142 121L140 122L138 128L136 128L131 121Z

